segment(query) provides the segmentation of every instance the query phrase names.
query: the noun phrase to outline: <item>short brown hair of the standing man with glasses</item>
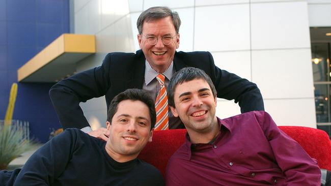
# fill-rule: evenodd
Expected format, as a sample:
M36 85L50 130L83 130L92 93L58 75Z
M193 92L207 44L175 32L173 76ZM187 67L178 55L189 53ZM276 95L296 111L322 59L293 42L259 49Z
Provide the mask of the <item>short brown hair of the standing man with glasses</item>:
M170 16L173 20L176 34L179 33L179 27L180 27L180 18L177 12L173 12L168 7L151 7L144 12L142 12L137 20L137 28L139 34L143 34L143 24L144 21L151 21L151 20L157 20L161 19L163 17Z

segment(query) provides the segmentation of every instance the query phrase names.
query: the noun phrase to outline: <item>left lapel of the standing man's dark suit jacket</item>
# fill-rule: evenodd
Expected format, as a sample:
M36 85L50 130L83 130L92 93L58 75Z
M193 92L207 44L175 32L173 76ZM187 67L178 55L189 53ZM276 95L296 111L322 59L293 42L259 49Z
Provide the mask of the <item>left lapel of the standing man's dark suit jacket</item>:
M143 88L145 79L145 55L142 50L137 50L133 59L131 69L127 72L131 77L125 83L125 88Z

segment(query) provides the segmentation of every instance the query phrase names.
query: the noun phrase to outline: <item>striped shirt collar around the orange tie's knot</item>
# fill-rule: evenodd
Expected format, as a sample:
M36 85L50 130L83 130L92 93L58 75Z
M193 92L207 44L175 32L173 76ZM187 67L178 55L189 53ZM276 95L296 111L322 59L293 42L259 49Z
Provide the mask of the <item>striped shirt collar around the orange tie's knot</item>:
M170 80L173 77L173 74L175 73L174 69L174 63L171 62L170 66L166 71L164 71L162 74L167 77L168 80ZM156 76L158 73L149 65L148 61L145 61L145 85L148 85Z

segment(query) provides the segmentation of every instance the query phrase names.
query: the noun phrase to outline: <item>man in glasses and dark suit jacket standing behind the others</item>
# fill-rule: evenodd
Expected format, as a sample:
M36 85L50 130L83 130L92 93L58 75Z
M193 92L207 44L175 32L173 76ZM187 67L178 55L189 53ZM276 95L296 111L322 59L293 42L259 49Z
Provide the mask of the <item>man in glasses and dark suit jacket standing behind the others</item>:
M204 70L212 79L218 98L239 102L241 112L264 110L256 84L215 66L209 52L176 52L179 47L180 18L167 7L152 7L137 20L136 53L109 53L100 67L64 79L49 91L53 106L64 128L78 128L106 140L104 128L92 131L80 102L105 95L107 107L113 98L128 88L142 88L155 99L160 89L156 76L166 76L166 86L176 71L184 67ZM169 128L184 128L169 109Z

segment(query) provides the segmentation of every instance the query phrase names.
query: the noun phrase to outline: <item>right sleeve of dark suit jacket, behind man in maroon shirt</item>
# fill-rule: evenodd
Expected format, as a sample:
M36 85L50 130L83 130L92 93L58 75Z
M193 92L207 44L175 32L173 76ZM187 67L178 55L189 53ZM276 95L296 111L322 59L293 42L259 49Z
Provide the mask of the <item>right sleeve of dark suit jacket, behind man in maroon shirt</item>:
M215 66L212 55L207 53L210 61L210 77L215 85L217 97L239 103L241 113L264 110L262 95L257 85L233 73L219 69Z

